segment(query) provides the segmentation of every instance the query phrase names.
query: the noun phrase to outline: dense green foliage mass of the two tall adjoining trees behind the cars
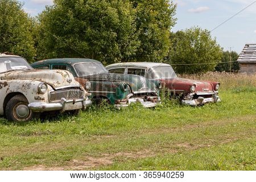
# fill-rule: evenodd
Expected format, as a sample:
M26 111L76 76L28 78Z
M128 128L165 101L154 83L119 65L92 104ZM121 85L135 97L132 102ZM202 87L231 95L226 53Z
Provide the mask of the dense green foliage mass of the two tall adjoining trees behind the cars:
M169 1L56 0L39 16L38 55L105 64L160 61L170 47L175 7Z

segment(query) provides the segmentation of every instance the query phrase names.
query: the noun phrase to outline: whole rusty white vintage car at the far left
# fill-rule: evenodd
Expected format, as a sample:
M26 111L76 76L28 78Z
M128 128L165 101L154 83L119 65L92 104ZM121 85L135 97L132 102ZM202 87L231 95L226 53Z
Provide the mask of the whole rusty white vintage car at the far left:
M0 115L26 122L48 111L76 111L92 104L68 71L36 70L20 56L0 53Z

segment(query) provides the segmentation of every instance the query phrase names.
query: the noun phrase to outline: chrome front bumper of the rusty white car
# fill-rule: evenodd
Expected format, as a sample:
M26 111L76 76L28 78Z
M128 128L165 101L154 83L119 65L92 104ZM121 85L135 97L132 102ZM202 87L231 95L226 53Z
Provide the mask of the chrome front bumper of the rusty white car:
M42 113L45 111L60 110L61 113L67 110L85 109L92 105L90 100L65 100L61 98L60 102L46 103L46 102L32 102L28 104L28 108L34 112Z

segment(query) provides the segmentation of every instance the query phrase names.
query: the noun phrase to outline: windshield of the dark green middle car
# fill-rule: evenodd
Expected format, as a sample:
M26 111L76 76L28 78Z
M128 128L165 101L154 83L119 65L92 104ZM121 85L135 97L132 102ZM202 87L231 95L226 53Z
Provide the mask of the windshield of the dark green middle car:
M97 75L100 73L108 73L101 63L79 63L75 64L78 76Z

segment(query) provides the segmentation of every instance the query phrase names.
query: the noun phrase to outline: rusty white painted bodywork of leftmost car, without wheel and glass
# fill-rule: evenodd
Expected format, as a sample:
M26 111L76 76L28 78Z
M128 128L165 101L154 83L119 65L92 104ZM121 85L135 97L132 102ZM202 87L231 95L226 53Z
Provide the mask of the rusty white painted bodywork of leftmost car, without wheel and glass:
M91 102L86 97L87 92L75 80L73 75L68 71L62 70L35 70L32 68L24 68L19 65L11 65L12 61L6 58L19 57L13 55L0 55L0 63L2 65L9 64L9 69L2 69L0 73L0 115L5 114L5 106L7 102L15 95L20 94L26 97L28 105L36 111L59 110L56 106L59 103L61 110L82 109ZM3 59L4 57L4 59ZM19 59L23 59L19 57ZM26 60L22 60L26 63ZM4 63L3 63L4 62ZM11 66L11 67L10 67ZM39 85L46 84L46 92L40 92ZM63 90L63 92L61 92ZM67 91L68 90L68 91ZM50 93L61 92L58 96L55 94L54 103L50 100ZM65 102L61 102L64 100ZM39 107L42 106L42 107Z

